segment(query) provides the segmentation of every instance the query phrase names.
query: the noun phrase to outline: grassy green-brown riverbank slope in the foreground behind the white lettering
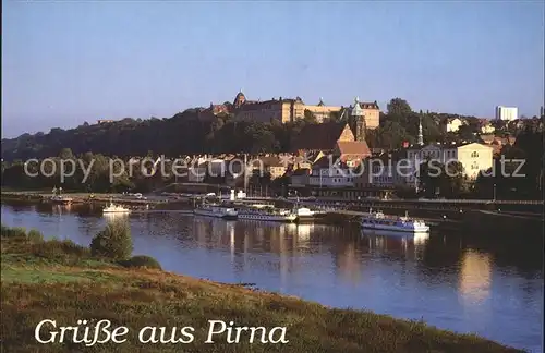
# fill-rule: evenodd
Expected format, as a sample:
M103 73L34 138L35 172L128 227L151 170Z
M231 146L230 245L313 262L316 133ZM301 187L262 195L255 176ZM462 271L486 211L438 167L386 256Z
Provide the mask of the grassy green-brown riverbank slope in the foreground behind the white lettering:
M331 309L295 297L178 276L158 269L123 267L94 258L66 241L44 241L36 232L2 226L2 351L5 352L519 352L475 336L456 334L422 322L370 312ZM109 319L130 329L128 341L84 348L40 344L44 319L75 326L78 319ZM249 343L226 336L205 344L207 320L238 326L287 327L286 344ZM146 326L195 328L187 344L143 344ZM44 331L47 333L47 330ZM179 334L179 337L181 337Z

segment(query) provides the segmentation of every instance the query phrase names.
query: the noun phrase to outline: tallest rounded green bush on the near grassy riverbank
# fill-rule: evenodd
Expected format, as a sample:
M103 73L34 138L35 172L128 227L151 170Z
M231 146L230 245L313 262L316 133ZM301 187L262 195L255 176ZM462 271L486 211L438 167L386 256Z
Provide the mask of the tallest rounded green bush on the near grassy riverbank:
M132 252L131 229L123 220L109 222L90 242L90 254L93 256L124 260L131 257Z

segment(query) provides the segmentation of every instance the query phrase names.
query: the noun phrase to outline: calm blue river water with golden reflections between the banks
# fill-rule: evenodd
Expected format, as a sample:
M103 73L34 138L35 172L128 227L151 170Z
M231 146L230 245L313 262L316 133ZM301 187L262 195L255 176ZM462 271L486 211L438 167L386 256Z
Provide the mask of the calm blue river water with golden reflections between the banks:
M2 204L7 226L88 245L97 210ZM124 216L134 255L164 269L335 307L364 308L543 352L543 254L529 234L365 234L353 226L222 221L177 212ZM534 234L535 235L535 234ZM493 239L493 240L489 240Z

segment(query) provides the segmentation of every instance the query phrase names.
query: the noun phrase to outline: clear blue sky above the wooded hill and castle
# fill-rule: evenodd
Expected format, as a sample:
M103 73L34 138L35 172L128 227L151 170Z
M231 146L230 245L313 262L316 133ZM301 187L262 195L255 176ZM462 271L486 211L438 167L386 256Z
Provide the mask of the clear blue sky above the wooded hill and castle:
M300 96L536 115L543 1L2 1L2 138Z

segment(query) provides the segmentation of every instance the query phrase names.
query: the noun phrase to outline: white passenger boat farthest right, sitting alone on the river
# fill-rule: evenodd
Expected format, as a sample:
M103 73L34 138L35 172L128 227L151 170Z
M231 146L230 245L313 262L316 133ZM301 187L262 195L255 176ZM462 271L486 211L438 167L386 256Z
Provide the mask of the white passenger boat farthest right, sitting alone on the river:
M383 212L370 212L362 217L361 227L363 229L374 229L395 232L426 233L429 226L423 220L404 217L386 217Z

